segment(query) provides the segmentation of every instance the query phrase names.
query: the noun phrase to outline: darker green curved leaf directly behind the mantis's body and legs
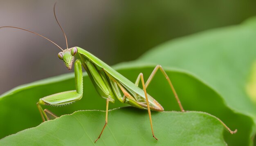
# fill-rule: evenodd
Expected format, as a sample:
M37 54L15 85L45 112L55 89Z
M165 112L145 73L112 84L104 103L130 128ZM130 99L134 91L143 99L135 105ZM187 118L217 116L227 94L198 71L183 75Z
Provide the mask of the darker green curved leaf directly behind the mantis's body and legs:
M116 67L116 69L131 81L135 81L137 75L140 72L144 73L144 77L146 79L153 71L154 66L148 66L145 64L132 64L132 67L129 67L128 65L119 65L119 67ZM253 121L249 117L231 111L223 103L223 100L220 95L218 95L218 93L213 91L204 83L200 82L200 80L196 79L195 77L187 73L171 70L168 68L166 68L166 73L168 74L168 76L171 77L171 80L175 86L178 95L180 96L181 102L185 110L205 111L207 113L211 113L212 115L215 115L222 119L222 121L225 122L232 130L235 130L237 128L238 133L236 133L235 135L231 135L226 131L224 132L224 138L228 144L252 144L250 134L252 131ZM89 77L85 75L83 79L84 95L80 101L75 102L74 104L69 106L43 106L43 108L48 108L57 115L71 114L74 111L85 109L106 110L106 100L99 97ZM26 128L37 126L41 123L42 120L36 107L36 102L38 102L39 98L61 91L73 90L74 88L74 75L66 74L17 87L1 96L0 117L4 119L0 120L1 137L16 133ZM160 104L162 104L162 106L165 108L165 111L180 111L177 102L175 101L175 98L171 93L171 89L168 86L165 77L161 73L157 73L155 75L155 78L151 82L150 86L148 86L147 91ZM121 104L120 102L116 101L115 104L110 104L110 109L121 106L128 106L128 104ZM141 111L144 112L145 115L147 115L147 112L141 109L137 109L134 114ZM126 114L126 116L129 117L130 122L137 121L136 118L133 118L134 114ZM193 119L193 117L191 117L191 119ZM94 119L90 118L90 120ZM153 118L154 125L155 120L156 119ZM161 120L161 123L165 124L166 127L173 124L168 120L159 120ZM102 122L104 123L104 119L102 120ZM113 121L111 120L111 118L109 118L108 122L110 124ZM144 122L149 121L147 119L144 120ZM113 124L118 125L121 123L115 122ZM56 124L54 125L56 126ZM66 125L68 126L70 124L66 123ZM155 130L157 130L157 128ZM127 131L129 131L129 129L127 129ZM88 131L88 133L94 133L94 131ZM130 135L136 135L137 137L141 137L140 133L130 133ZM10 137L12 136L15 135L11 135ZM146 139L152 138L151 136L145 137ZM223 137L220 137L220 139L222 138ZM141 141L144 141L144 139L141 139Z

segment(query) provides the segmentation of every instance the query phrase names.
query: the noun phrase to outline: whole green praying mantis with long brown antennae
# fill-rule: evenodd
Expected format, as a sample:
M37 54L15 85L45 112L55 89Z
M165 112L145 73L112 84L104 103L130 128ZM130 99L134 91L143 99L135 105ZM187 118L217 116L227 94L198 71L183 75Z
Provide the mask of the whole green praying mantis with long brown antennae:
M65 32L63 31L60 23L57 20L56 14L55 14L55 6L56 3L54 4L54 17L61 28L65 40L66 40L66 45L67 45L67 37L65 35ZM52 42L56 46L58 46L56 43L53 41L49 40L48 38L44 37L43 35L40 35L38 33L35 33L33 31L29 31L27 29L22 29L19 27L11 27L11 26L4 26L0 28L15 28L15 29L21 29L24 31L28 31L30 33L34 33L36 35L39 35L42 38L47 39L48 41ZM72 64L74 63L74 74L75 74L75 84L76 84L76 90L73 91L65 91L61 93L56 93L53 95L49 95L43 98L40 98L39 101L37 102L37 107L40 112L40 116L43 119L43 122L46 120L49 120L48 115L52 115L53 117L57 117L54 113L47 109L43 109L41 105L52 105L52 106L60 106L60 105L66 105L70 104L72 102L75 102L77 100L80 100L83 96L83 74L82 74L82 66L85 69L85 71L88 73L88 76L90 77L90 80L92 81L95 89L99 93L101 97L106 99L106 119L105 119L105 124L101 130L101 133L99 134L99 137L95 140L97 142L106 125L108 124L108 104L110 103L115 103L115 99L119 100L119 102L125 103L125 104L130 104L131 106L141 108L141 109L147 109L148 110L148 116L150 120L150 126L151 126L151 131L153 137L155 137L154 131L153 131L153 124L152 124L152 119L151 119L151 113L150 110L153 111L164 111L164 108L159 104L153 97L151 97L147 91L146 88L150 84L150 82L153 80L155 73L160 70L164 77L166 77L166 80L168 84L171 87L171 91L174 94L174 97L177 100L177 103L180 107L180 110L182 112L184 111L184 108L182 107L182 104L180 102L180 99L175 91L175 88L162 68L162 66L157 65L153 72L150 74L148 77L148 80L146 83L144 82L144 76L143 73L139 73L137 80L135 83L131 82L128 80L126 77L112 69L108 64L105 62L101 61L99 58L95 57L92 55L90 52L80 48L80 47L71 47L69 48L67 45L67 49L63 50L60 46L58 46L62 51L58 53L58 58L63 60L65 66L67 69L71 70L72 69ZM79 55L80 59L77 59L74 61L74 56ZM142 89L138 87L139 82L142 83ZM217 118L218 119L218 118ZM223 126L231 133L234 134L237 132L231 131L229 127L227 127L224 122L222 122L220 119L218 119Z

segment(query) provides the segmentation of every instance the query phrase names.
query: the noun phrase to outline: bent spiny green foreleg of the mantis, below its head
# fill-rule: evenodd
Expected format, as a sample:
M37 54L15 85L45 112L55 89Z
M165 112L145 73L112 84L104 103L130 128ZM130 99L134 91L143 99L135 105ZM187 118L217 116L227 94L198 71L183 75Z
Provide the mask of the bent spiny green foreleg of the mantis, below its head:
M76 90L73 91L65 91L61 93L56 93L53 95L49 95L43 98L40 98L37 103L37 107L40 111L40 115L43 121L49 120L49 117L46 113L49 113L53 117L57 117L51 111L43 108L40 105L65 105L75 102L76 100L80 100L83 95L83 72L82 72L82 62L81 60L76 60L74 63L74 73L75 73L75 82L76 82Z

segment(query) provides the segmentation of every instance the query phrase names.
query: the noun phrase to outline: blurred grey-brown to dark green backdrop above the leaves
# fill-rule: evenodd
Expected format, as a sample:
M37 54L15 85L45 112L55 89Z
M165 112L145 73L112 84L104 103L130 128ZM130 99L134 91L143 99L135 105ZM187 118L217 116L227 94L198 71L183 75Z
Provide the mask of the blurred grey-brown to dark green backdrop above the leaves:
M65 48L54 0L0 0L0 26L40 33ZM59 0L56 15L69 47L80 46L112 65L135 60L162 42L239 24L256 15L255 0ZM0 94L68 73L52 43L18 29L0 29ZM182 57L182 56L181 56Z

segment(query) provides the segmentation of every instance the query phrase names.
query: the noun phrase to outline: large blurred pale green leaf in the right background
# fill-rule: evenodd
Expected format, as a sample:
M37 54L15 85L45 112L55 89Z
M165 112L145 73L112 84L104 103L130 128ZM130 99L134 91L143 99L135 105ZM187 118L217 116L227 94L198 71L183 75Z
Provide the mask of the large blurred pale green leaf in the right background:
M138 61L189 72L220 93L229 107L256 120L256 103L249 96L256 88L246 90L255 78L249 76L256 75L255 38L256 18L252 18L238 26L171 40Z

